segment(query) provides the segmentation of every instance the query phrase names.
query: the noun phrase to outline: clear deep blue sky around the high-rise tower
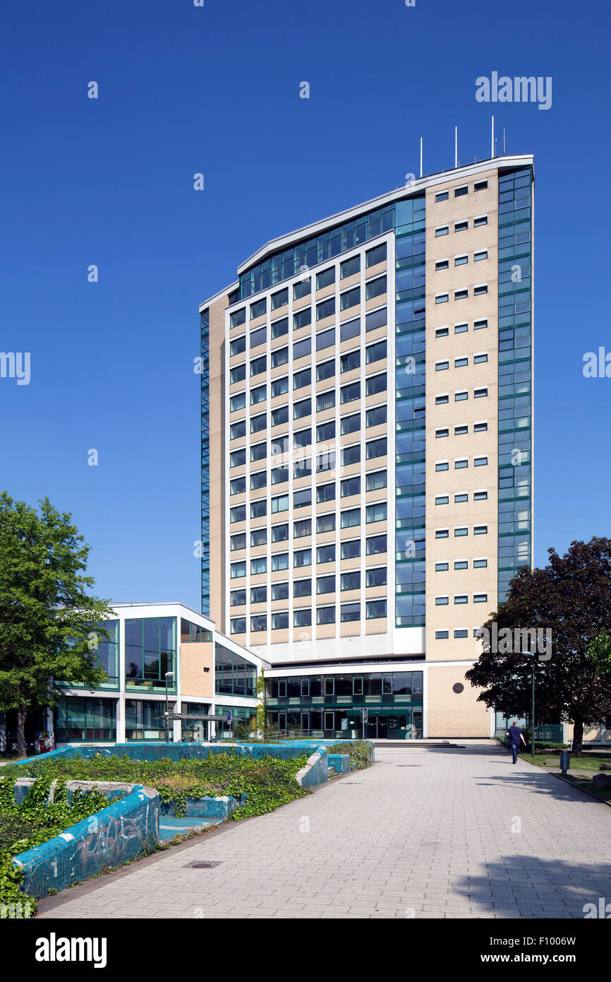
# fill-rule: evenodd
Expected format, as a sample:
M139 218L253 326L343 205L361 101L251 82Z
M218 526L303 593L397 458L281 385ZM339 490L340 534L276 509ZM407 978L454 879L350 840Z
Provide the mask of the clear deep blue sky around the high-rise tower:
M197 307L276 235L489 154L475 80L535 154L535 563L611 533L609 6L542 0L6 0L0 488L72 512L96 592L199 609ZM87 82L99 98L87 98ZM311 85L299 98L299 82ZM206 190L193 191L202 172ZM87 267L99 282L87 282ZM87 465L87 451L99 465Z

